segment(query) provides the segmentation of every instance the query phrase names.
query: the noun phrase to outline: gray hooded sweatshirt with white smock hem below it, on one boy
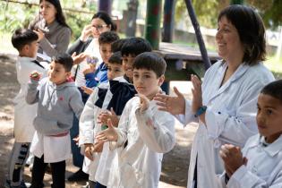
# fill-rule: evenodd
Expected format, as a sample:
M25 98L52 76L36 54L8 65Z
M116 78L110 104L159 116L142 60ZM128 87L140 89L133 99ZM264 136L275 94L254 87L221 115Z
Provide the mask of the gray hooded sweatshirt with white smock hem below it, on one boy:
M45 163L70 158L73 113L79 118L84 106L74 82L56 85L45 78L38 85L38 81L30 80L26 100L29 104L38 102L30 152L38 158L44 155Z

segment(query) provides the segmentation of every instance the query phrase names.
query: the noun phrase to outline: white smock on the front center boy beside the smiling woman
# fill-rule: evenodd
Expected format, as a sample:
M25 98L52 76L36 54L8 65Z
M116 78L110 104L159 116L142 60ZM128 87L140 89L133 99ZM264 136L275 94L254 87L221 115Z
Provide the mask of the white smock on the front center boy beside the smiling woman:
M140 111L140 98L130 99L124 107L118 128L117 159L112 165L108 188L158 187L163 153L175 146L175 118L159 111L156 101Z

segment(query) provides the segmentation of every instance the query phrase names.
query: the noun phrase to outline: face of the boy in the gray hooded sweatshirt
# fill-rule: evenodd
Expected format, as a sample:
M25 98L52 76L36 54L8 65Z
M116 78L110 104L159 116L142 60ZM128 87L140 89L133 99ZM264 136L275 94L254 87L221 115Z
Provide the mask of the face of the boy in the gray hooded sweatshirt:
M56 85L60 85L67 81L70 75L71 72L66 72L63 64L55 63L55 61L51 62L50 69L48 71L50 81Z

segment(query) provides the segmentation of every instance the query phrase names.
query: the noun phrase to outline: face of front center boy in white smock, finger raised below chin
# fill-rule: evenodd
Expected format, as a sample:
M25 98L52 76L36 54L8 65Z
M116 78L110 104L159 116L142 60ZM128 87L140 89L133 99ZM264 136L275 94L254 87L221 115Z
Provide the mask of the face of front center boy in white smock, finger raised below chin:
M135 90L149 99L155 97L164 80L165 77L163 75L158 78L155 72L148 69L133 70L133 85Z

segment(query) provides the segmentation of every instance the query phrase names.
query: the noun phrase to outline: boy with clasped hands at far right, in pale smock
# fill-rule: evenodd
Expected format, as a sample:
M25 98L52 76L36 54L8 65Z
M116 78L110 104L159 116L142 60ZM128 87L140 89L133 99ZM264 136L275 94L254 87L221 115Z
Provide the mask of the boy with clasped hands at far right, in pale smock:
M221 147L226 172L223 187L282 187L282 80L273 81L261 90L258 98L259 132L241 152L239 147Z

